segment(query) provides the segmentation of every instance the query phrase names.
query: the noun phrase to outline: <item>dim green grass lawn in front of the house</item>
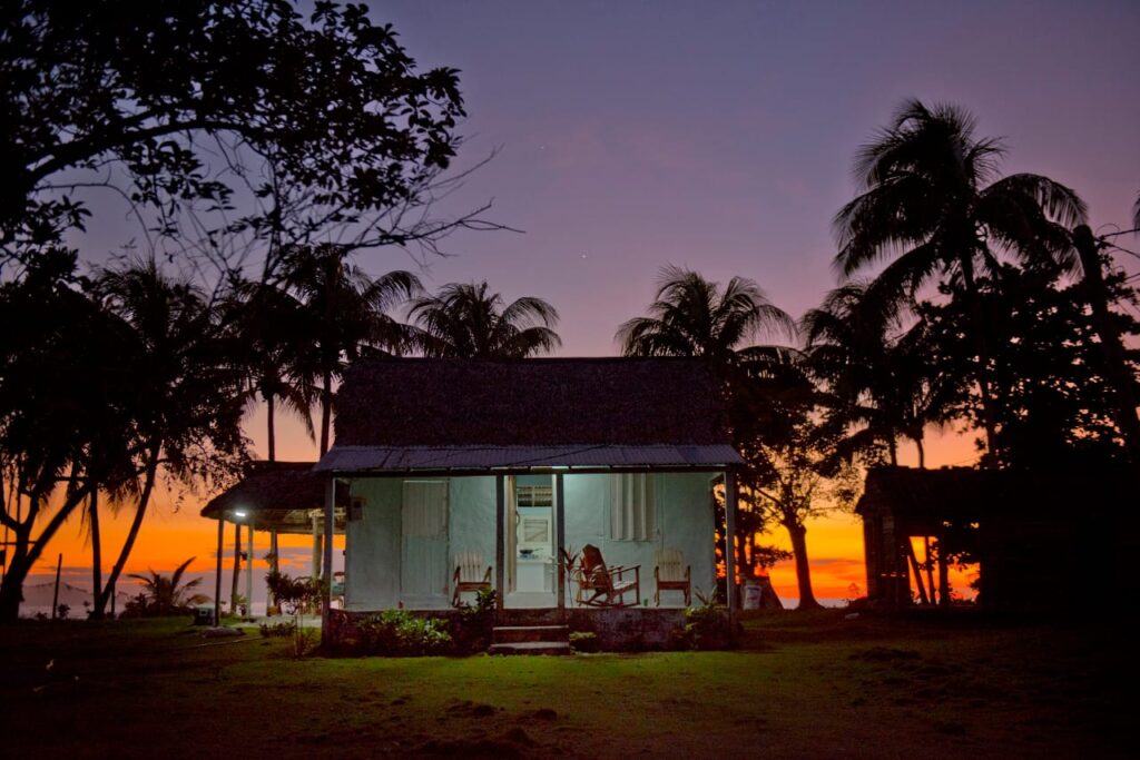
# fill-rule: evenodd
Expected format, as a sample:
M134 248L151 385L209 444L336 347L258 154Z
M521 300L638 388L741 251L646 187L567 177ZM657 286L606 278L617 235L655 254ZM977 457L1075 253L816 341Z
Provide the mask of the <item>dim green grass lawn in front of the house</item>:
M0 628L0 757L1132 755L1135 655L1112 628L744 624L731 652L294 660L181 619L26 622Z

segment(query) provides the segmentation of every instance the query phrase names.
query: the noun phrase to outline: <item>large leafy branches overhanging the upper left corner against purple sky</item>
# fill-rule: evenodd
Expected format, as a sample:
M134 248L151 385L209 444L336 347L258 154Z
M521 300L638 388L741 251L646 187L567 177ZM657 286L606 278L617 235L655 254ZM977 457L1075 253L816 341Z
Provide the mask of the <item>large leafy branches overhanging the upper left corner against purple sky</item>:
M285 0L6 2L0 262L82 228L79 191L92 185L153 214L178 245L181 211L255 199L205 230L201 251L227 268L243 252L222 232L275 251L329 226L356 246L431 246L482 226L478 211L423 213L459 142L456 74L418 72L364 3L318 1L304 19Z

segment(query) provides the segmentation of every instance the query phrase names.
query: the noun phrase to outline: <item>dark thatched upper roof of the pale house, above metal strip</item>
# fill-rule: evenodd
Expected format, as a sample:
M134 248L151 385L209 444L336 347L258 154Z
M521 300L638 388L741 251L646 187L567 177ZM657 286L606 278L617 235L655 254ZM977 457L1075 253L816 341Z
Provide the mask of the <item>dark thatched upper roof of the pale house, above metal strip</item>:
M691 359L370 359L335 400L337 447L731 442Z

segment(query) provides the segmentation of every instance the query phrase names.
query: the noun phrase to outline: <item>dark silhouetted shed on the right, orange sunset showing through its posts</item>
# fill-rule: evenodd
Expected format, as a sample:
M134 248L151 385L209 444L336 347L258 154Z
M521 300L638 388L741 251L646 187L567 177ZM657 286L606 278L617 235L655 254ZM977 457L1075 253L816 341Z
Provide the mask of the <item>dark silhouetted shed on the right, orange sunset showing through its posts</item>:
M888 607L910 605L912 594L948 600L947 566L962 563L977 565L987 607L1118 603L1137 590L1134 501L1132 476L1119 471L873 468L855 507L868 597ZM937 581L914 540L935 547Z

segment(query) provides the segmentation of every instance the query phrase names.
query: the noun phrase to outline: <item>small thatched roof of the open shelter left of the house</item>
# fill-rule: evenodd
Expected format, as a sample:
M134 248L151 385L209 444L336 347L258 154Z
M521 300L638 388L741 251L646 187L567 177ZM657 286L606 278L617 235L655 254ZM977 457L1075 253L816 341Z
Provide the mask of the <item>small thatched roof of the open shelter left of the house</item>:
M323 513L328 477L314 472L312 461L253 461L245 477L206 502L202 516L234 521L236 512L246 513L243 523L259 530L283 533L312 531L312 510ZM343 501L337 493L337 501ZM339 504L344 506L344 504ZM341 522L341 521L337 521Z

